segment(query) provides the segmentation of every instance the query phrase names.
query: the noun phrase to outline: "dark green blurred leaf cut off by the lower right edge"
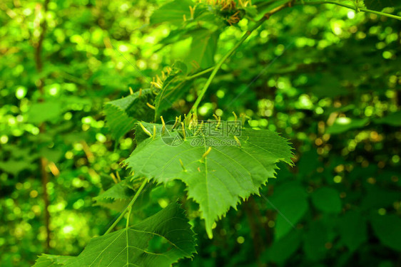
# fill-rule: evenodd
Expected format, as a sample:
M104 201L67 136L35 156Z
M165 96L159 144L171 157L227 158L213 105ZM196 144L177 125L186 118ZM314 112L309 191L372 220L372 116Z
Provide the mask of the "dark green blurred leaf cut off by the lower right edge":
M401 218L395 214L375 215L370 219L373 231L382 244L401 251Z

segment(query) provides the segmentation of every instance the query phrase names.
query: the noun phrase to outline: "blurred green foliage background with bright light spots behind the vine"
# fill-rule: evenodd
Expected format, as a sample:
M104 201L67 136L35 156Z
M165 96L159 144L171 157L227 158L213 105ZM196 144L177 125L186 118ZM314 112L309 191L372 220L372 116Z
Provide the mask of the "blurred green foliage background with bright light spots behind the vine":
M274 2L255 2L228 23L233 14L200 9L191 22L189 0L162 9L166 1L49 1L46 13L43 2L2 1L0 265L77 255L103 234L132 195L108 201L104 191L129 177L121 162L135 147L129 128L111 136L104 104L149 88L178 60L189 75L213 66ZM290 139L295 167L283 165L260 197L230 209L212 240L181 182L146 187L133 221L181 199L198 254L177 266L400 266L400 28L331 5L272 16L223 64L198 115L244 112L249 127ZM166 121L188 113L207 77L183 85L172 108L161 102Z

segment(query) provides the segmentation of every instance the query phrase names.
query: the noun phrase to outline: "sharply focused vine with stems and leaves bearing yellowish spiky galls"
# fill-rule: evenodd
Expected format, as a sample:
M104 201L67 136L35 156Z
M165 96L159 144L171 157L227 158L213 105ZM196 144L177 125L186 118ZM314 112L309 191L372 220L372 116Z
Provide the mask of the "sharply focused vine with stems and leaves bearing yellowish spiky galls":
M220 67L255 29L283 9L307 4L336 4L401 20L399 16L370 9L392 6L392 1L385 0L266 1L260 6L268 6L269 11L210 68L222 26L235 25L245 16L253 21L258 17L250 0L198 0L196 3L175 0L156 10L151 23L176 23L181 27L174 34L190 34L193 43L185 63L178 61L165 68L160 76L153 78L149 88L136 92L130 88L131 95L105 105L106 120L114 139L126 135L136 125L136 148L124 162L133 176L95 199L125 199L128 204L105 234L92 239L78 256L42 254L34 266L171 266L196 252L194 232L177 203L131 225L131 214L135 212L133 205L146 184L181 180L186 185L188 197L198 203L205 230L212 239L213 224L231 207L235 209L242 199L258 194L260 187L275 177L278 162L293 164L288 141L269 130L246 128L245 115L238 117L233 112L235 119L224 122L217 115L212 120L198 120L197 112ZM200 26L206 24L212 27ZM213 25L214 29L210 30ZM169 43L171 39L166 38L164 42ZM199 53L200 49L205 53ZM196 72L198 68L203 70ZM172 108L172 103L191 88L194 80L208 73L209 78L188 114L176 117L171 124L166 123L161 116L163 111ZM126 193L127 188L134 189L133 197ZM126 227L113 231L124 216ZM166 249L157 253L148 249L148 243L155 237L166 241Z

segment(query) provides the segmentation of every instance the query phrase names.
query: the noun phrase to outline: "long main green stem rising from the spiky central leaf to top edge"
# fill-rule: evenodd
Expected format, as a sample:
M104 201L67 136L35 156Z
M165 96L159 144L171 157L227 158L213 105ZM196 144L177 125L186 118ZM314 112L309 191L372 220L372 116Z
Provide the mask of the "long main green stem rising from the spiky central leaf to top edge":
M193 104L191 111L193 113L196 114L197 110L198 110L198 105L200 103L200 101L202 100L203 96L205 95L206 91L209 88L210 83L212 83L213 78L215 78L216 73L218 72L218 70L220 70L221 66L223 65L223 63L225 62L225 60L227 58L229 58L234 52L235 50L237 50L237 48L250 36L250 34L255 31L255 29L259 28L260 25L263 24L263 22L267 21L271 15L275 14L276 12L285 9L288 6L291 6L291 4L293 3L293 1L288 1L285 4L282 4L278 7L276 7L275 9L272 9L270 11L268 11L268 13L266 13L262 19L260 19L252 28L250 28L248 31L246 31L246 33L243 35L242 38L240 38L240 41L238 41L238 43L235 44L235 46L233 48L230 49L230 51L228 51L228 53L226 53L223 58L220 59L220 61L218 61L218 63L216 64L216 66L213 68L212 73L210 74L208 80L206 81L205 85L203 85L202 91L200 92L200 94L198 95L198 98L196 98L195 103Z

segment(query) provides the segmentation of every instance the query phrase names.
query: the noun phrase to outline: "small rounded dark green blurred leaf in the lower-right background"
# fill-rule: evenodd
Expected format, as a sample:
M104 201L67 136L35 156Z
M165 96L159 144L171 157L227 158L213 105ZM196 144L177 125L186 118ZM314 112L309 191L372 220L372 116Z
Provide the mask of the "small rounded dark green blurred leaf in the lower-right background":
M340 194L330 187L321 187L313 192L312 203L320 211L335 214L340 213L342 206Z

